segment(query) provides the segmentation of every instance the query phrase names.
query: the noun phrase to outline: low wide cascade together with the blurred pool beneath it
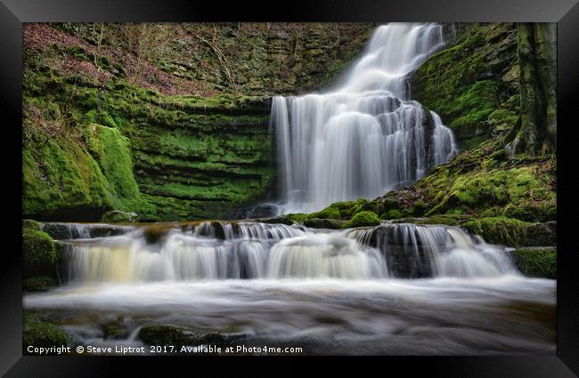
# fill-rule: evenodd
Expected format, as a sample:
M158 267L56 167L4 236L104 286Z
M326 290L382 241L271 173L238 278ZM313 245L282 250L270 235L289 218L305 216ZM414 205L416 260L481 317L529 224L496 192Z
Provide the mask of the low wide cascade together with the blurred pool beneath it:
M63 286L26 294L24 307L85 345L143 346L142 326L168 324L234 329L238 344L306 354L555 351L555 281L521 276L505 248L459 228L212 221L108 237L90 237L95 225L70 229ZM126 334L107 334L110 324Z

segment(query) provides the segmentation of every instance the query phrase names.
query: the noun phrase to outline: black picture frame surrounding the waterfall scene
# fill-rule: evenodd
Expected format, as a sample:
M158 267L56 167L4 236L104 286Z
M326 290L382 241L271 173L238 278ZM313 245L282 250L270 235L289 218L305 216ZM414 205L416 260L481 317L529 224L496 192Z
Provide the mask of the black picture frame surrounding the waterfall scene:
M268 12L263 12L269 10ZM579 374L579 291L574 229L579 179L575 168L576 102L579 99L579 4L577 0L324 0L187 2L185 0L0 0L0 119L4 199L4 251L0 274L0 374L106 376L145 359L22 357L21 355L21 118L22 23L60 21L528 21L558 23L558 287L557 355L545 357L388 358L388 371L404 375L461 377L573 377ZM20 217L20 218L19 218ZM560 220L560 221L559 221ZM567 221L565 221L567 220ZM183 358L172 359L176 366ZM152 360L157 364L159 360ZM342 360L344 363L345 360ZM147 359L151 363L151 359ZM347 361L346 361L347 363ZM198 363L196 363L198 364ZM287 364L287 362L286 362ZM165 364L163 364L165 365ZM216 364L212 361L210 365ZM244 370L239 360L232 366ZM255 365L255 364L253 364ZM333 363L332 363L333 365ZM146 366L146 364L144 364ZM254 367L255 368L255 367ZM292 367L289 367L290 372Z

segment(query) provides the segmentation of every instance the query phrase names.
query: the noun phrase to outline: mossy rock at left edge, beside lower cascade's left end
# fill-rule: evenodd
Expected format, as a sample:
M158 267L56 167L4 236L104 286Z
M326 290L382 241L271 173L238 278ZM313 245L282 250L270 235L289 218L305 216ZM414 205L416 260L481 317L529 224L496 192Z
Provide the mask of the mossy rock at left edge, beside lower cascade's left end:
M53 239L37 229L22 229L22 255L27 277L55 273L57 255Z

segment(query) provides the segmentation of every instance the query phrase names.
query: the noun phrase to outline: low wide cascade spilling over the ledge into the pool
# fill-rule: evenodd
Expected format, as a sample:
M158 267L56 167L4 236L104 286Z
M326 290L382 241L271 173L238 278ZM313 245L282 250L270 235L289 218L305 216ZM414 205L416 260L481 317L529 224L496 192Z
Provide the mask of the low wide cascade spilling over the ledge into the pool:
M213 221L123 231L109 237L75 233L85 238L67 240L64 277L82 284L518 274L502 247L451 226L401 223L334 231Z

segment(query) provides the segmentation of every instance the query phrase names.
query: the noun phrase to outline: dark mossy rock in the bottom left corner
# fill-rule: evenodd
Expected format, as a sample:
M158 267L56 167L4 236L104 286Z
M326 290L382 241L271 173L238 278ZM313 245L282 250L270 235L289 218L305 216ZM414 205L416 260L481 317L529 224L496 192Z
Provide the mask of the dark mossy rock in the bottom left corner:
M69 345L71 338L58 326L38 320L30 313L22 316L22 353L28 354L27 348L34 347L58 347ZM56 353L54 353L56 354Z

